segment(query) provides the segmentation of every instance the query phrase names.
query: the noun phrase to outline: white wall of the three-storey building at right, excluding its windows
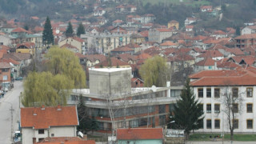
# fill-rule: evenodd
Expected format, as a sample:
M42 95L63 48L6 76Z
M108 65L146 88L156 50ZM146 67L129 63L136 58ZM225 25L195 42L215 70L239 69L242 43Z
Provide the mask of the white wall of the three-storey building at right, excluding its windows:
M235 86L238 87L238 95L239 97L243 98L243 101L241 102L241 109L238 110L238 113L236 113L236 118L238 119L238 129L235 129L234 132L244 132L244 133L252 133L256 132L256 86ZM246 88L252 87L253 88L253 97L247 98L246 97ZM203 88L203 98L198 98L198 88ZM206 98L206 88L211 88L211 98ZM220 98L214 98L214 88L220 88ZM194 94L196 95L196 98L199 99L199 102L203 104L203 110L204 110L204 128L197 130L198 132L222 132L222 122L224 122L224 130L225 132L230 132L228 121L226 118L226 114L223 113L224 104L222 99L222 94L224 94L224 91L226 88L224 87L218 87L218 86L202 86L202 87L194 87ZM230 87L230 90L232 87ZM214 104L220 104L220 113L214 113ZM246 111L246 103L253 103L253 113L247 113ZM206 113L206 104L211 104L211 113ZM240 107L238 106L238 107ZM212 129L206 129L206 120L211 119L211 126ZM220 128L215 129L214 128L214 119L220 119ZM247 129L246 127L246 120L247 119L253 119L253 129Z

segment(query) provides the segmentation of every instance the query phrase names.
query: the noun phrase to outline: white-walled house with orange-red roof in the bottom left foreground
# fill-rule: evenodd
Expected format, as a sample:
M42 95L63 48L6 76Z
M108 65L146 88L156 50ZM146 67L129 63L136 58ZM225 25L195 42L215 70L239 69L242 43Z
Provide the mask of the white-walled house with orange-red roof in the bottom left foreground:
M76 106L21 108L22 143L34 144L49 137L76 137Z

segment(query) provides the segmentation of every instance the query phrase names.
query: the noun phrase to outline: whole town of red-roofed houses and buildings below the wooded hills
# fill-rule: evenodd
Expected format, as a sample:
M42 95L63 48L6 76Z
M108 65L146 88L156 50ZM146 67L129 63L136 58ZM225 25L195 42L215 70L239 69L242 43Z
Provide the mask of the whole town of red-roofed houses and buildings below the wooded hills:
M86 11L65 21L0 17L0 143L253 137L256 16L209 28L231 4L207 4L165 23L122 0L58 1Z

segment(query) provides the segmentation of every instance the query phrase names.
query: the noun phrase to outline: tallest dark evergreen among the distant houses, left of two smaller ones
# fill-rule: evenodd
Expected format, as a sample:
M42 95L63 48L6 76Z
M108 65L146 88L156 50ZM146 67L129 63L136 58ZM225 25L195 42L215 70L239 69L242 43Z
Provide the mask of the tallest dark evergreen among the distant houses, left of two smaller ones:
M46 18L46 23L44 26L44 30L42 31L42 42L46 42L46 44L54 44L54 34L53 29L50 24L50 18Z

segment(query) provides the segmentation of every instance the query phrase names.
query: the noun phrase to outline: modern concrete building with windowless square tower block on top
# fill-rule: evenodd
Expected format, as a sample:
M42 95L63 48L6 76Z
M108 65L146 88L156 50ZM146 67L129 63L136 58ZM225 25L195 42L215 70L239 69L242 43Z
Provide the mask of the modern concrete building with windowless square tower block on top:
M90 89L73 90L69 104L76 104L82 95L90 116L98 120L98 132L163 126L182 90L170 86L131 88L131 68L91 68L89 74Z

